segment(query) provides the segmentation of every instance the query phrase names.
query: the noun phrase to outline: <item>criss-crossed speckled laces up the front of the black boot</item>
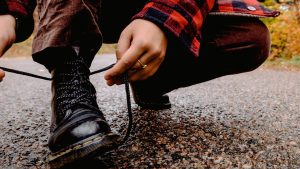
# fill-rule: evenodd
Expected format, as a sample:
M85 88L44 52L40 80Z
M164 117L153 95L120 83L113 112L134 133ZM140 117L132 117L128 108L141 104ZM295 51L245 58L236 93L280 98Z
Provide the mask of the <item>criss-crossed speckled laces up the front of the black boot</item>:
M59 114L65 116L68 110L83 107L99 110L96 90L89 80L90 71L82 59L66 62L58 71L54 78L58 78L55 92Z

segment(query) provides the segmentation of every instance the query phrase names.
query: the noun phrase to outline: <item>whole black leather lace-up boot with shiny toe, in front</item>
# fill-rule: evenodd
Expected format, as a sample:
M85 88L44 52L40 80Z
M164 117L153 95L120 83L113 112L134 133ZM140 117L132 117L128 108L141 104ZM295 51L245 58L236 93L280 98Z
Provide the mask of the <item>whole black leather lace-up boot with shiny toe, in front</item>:
M112 133L99 110L89 67L83 58L74 52L51 73L50 166L60 168L116 148L120 136Z

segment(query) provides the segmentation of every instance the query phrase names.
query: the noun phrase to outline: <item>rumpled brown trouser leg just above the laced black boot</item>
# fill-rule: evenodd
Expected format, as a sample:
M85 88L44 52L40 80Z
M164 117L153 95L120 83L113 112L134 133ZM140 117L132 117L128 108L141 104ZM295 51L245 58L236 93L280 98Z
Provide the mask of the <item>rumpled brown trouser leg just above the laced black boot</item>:
M37 0L39 22L33 41L33 60L53 69L74 49L90 66L102 44L99 29L101 1Z

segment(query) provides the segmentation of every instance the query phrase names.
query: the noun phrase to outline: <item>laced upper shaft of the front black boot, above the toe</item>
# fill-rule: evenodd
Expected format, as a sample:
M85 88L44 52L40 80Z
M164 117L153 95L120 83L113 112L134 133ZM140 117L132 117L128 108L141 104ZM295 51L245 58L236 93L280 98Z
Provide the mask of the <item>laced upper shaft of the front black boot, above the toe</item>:
M68 114L79 108L100 112L96 90L89 79L89 67L82 57L74 54L51 71L52 120L51 132Z

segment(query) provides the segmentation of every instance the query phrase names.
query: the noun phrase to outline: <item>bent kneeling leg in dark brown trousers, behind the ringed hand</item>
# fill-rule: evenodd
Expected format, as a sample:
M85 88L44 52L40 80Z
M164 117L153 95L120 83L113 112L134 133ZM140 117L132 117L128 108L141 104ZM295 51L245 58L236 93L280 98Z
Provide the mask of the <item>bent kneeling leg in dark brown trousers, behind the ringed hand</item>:
M257 18L209 17L203 27L200 56L195 58L182 49L176 40L169 40L166 59L151 78L135 82L139 105L165 93L225 75L252 71L268 57L270 36L267 27ZM153 98L151 98L153 97ZM166 103L164 103L166 104ZM154 104L159 106L159 104ZM166 107L166 106L165 106Z

